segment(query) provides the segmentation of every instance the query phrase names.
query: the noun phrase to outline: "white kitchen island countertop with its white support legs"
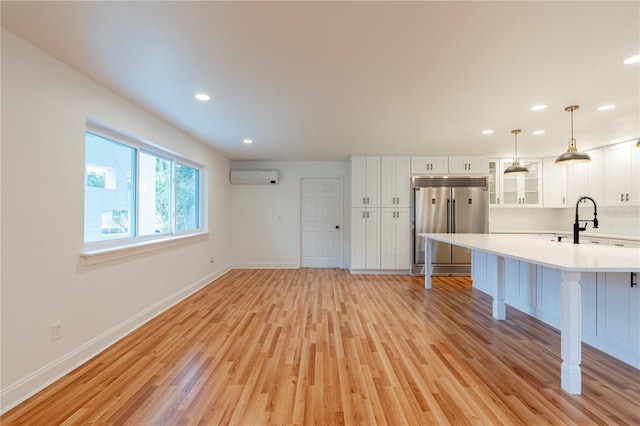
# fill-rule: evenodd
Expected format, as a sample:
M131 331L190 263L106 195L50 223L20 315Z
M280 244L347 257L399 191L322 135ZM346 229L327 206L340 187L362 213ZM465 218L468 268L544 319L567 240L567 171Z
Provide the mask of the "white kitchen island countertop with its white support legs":
M572 244L531 235L514 234L420 234L425 238L425 259L431 259L433 241L454 244L496 256L492 296L493 317L506 318L505 259L552 268L561 276L561 386L581 393L581 274L585 272L640 272L640 249ZM473 265L472 265L473 268ZM425 265L425 288L431 288L431 267Z

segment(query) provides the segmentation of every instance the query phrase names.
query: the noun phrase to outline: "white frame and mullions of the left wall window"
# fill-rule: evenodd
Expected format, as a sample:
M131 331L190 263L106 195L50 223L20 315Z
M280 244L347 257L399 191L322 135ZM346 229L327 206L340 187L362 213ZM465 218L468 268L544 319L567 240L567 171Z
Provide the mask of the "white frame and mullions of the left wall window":
M132 176L135 177L135 182L132 188L133 192L133 209L134 212L130 218L132 223L132 236L122 237L122 238L107 238L100 241L85 241L86 231L85 231L85 215L83 214L83 250L81 252L81 256L85 257L87 263L89 263L89 259L95 256L100 256L104 253L110 253L110 260L113 258L114 251L118 250L126 250L130 251L132 248L136 247L149 247L150 245L158 245L158 246L166 246L167 242L171 243L171 241L177 241L182 243L185 239L189 237L198 237L202 235L208 234L207 232L207 216L205 214L205 206L207 205L206 199L206 184L205 184L205 176L206 176L206 166L203 164L197 163L189 158L186 158L180 154L177 154L173 151L167 150L159 145L148 142L138 137L134 137L128 135L124 132L117 131L108 127L105 127L99 123L95 123L92 121L87 121L85 130L83 132L84 135L84 148L85 155L83 161L83 210L86 209L86 186L87 186L87 160L86 160L86 134L93 133L99 137L108 139L112 142L116 142L125 146L128 146L135 150L135 161L133 167L135 170L132 171ZM148 155L155 156L157 158L163 160L170 161L170 172L171 172L171 211L169 214L170 221L170 231L160 234L148 234L148 235L140 235L140 154L145 153ZM198 227L190 230L181 230L176 231L176 164L181 164L190 168L193 168L198 171L198 185L197 185L197 201L198 201ZM165 244L160 244L165 243ZM171 245L171 244L169 244ZM160 247L158 247L160 248ZM124 254L126 256L128 254ZM118 256L116 256L118 257ZM96 259L93 259L94 261ZM105 261L106 261L105 260ZM97 262L91 262L97 263Z

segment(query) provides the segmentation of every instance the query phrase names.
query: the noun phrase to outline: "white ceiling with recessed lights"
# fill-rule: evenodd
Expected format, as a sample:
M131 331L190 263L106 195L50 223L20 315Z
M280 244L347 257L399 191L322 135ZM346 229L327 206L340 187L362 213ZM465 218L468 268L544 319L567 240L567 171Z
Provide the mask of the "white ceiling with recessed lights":
M639 5L2 1L1 13L232 160L335 160L509 157L515 128L522 157L555 156L572 104L579 149L638 137L640 65L622 61L640 53Z

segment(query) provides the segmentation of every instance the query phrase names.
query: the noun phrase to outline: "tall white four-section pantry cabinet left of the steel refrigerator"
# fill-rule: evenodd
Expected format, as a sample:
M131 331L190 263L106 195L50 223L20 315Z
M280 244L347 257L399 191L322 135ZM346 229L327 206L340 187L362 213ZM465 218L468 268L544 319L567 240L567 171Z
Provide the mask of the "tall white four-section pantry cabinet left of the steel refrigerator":
M409 157L351 158L351 270L409 270Z

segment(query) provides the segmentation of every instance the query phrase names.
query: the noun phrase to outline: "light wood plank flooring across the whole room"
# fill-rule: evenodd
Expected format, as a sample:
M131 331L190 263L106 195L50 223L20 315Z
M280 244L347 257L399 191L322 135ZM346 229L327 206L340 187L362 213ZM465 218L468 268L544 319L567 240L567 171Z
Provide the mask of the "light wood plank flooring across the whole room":
M640 371L467 278L234 270L10 410L34 424L640 424Z

